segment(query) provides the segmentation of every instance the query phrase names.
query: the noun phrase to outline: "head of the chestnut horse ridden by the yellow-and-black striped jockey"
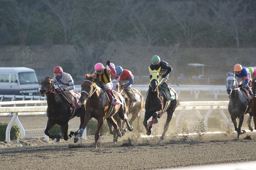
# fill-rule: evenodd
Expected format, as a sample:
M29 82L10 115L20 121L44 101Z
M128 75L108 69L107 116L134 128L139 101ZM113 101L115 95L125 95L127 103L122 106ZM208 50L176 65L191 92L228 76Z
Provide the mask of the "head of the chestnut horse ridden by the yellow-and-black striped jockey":
M84 101L93 95L93 88L95 84L95 78L91 74L86 74L85 75L85 80L83 81L83 84L81 85L81 97L80 97L80 102L84 103Z

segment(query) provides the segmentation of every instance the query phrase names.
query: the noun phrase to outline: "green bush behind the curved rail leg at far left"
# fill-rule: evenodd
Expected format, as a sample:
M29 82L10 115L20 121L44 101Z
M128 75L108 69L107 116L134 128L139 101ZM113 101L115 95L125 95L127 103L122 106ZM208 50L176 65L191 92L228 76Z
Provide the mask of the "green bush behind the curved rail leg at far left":
M5 141L5 132L9 123L0 123L0 141ZM10 131L10 140L20 139L20 128L13 124Z

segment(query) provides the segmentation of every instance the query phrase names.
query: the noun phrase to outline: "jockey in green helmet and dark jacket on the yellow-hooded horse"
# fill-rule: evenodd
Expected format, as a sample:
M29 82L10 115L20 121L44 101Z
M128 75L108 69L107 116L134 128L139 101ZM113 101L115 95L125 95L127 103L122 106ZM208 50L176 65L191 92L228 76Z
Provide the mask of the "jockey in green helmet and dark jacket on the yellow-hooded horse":
M151 60L150 69L151 70L158 70L161 67L160 74L162 75L161 80L163 78L166 78L162 81L162 84L165 84L167 86L167 90L169 91L169 86L166 83L169 73L172 71L172 67L165 61L161 61L159 56L154 55Z

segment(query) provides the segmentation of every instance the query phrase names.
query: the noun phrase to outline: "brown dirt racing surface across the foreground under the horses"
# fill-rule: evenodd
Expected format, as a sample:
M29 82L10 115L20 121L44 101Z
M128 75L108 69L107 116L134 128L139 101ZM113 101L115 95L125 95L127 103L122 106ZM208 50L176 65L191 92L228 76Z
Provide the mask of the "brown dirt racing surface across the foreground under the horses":
M244 139L246 134L252 139ZM113 145L112 137L105 136L98 149L93 148L93 136L78 144L62 139L46 146L43 138L27 139L25 142L38 146L0 148L1 169L163 169L255 161L256 134L246 134L241 139L235 139L233 133L195 135L185 141L169 136L160 145L159 137L130 135L130 141L125 138Z

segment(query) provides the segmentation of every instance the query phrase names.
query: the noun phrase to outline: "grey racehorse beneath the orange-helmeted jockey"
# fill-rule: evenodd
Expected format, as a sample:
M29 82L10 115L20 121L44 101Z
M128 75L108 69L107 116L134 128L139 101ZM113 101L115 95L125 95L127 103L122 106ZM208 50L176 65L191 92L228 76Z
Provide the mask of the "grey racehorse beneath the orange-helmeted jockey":
M235 78L234 73L230 73L230 72L227 73L226 88L227 88L227 94L229 94L229 105L228 105L229 114L231 116L231 120L234 124L235 130L237 131L237 138L239 138L241 134L246 133L245 130L241 130L241 126L244 121L244 113L249 102L246 96L243 94L240 87L238 87L238 82ZM238 127L237 127L237 120L236 120L237 118L239 119Z

